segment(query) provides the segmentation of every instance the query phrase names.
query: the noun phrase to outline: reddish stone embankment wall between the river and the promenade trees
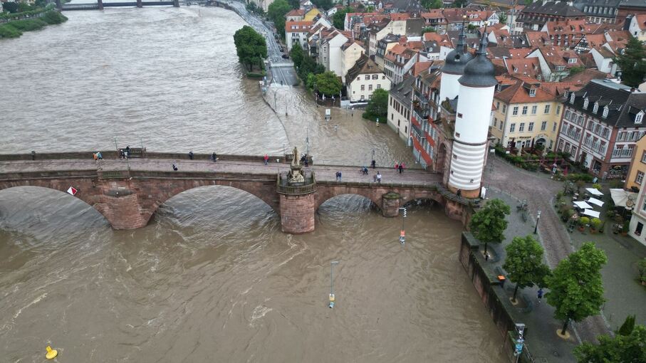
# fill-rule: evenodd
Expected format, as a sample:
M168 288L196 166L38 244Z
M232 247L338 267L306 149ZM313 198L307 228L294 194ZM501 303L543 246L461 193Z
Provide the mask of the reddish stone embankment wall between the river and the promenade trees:
M516 362L514 355L514 344L516 338L516 324L522 323L523 319L511 305L508 295L504 291L506 279L500 279L499 273L491 268L481 253L479 253L480 242L470 232L462 232L460 243L459 261L467 272L476 293L484 303L487 312L494 320L496 330L503 337L504 343L501 347L510 362ZM531 334L527 328L524 330L525 337ZM519 362L533 362L526 345Z

